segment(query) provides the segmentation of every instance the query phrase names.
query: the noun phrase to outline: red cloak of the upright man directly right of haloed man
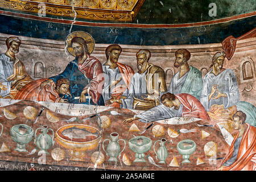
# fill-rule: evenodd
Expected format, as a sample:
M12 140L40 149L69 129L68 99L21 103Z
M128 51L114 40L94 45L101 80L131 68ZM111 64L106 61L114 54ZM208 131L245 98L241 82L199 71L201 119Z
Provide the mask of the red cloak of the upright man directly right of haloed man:
M126 87L123 87L122 85L117 85L112 90L112 96L116 97L118 100L122 96L123 92L125 92L126 89L129 90L130 84L131 84L131 78L134 75L133 68L129 67L128 65L117 63L117 67L122 75L122 79L126 84ZM109 105L112 107L120 107L120 104L118 102L114 102L113 104Z

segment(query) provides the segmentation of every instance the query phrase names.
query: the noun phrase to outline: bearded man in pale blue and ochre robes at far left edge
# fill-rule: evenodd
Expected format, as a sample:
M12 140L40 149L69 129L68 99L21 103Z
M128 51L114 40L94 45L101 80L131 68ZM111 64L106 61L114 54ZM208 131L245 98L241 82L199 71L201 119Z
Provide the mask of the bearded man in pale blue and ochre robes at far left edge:
M32 81L22 61L15 56L20 43L19 38L10 36L6 39L7 51L0 55L0 98L13 99L24 85Z

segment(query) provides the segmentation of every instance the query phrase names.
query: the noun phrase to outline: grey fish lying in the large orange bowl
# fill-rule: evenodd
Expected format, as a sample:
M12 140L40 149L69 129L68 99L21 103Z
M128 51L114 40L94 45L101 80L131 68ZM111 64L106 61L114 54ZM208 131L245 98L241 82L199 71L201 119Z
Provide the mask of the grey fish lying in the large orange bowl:
M93 136L93 137L98 137L97 131L95 133L92 133L90 131L87 131L85 129L79 129L76 126L73 126L69 129L65 129L62 133L63 136L70 138L71 140L73 138L82 138L86 139L86 137Z

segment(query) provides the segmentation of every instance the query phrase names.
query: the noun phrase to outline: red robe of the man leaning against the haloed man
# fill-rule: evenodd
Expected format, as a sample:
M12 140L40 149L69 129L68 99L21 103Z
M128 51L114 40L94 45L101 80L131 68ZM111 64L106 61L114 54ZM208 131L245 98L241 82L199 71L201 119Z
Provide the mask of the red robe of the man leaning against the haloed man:
M43 78L35 81L31 81L15 96L15 100L28 100L28 101L46 101L46 102L59 102L59 93L54 88L54 82L50 86L44 86L41 88L40 84L48 78Z

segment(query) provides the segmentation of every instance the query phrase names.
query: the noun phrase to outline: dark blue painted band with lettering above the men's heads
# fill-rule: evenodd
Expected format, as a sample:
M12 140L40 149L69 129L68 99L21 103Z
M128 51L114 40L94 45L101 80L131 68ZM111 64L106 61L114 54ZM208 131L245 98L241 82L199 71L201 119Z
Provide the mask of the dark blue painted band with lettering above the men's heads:
M220 43L226 37L235 38L255 27L255 16L209 26L186 28L129 28L129 27L88 27L73 25L72 31L85 31L93 36L96 43L133 44L143 46L164 46L181 44ZM26 18L0 15L0 32L43 38L65 40L71 24L49 23ZM113 28L113 30L112 30Z

